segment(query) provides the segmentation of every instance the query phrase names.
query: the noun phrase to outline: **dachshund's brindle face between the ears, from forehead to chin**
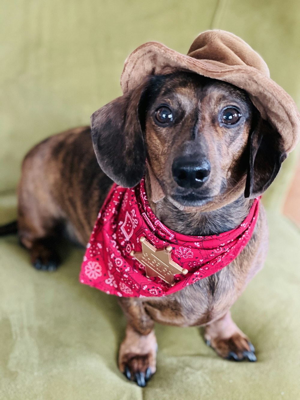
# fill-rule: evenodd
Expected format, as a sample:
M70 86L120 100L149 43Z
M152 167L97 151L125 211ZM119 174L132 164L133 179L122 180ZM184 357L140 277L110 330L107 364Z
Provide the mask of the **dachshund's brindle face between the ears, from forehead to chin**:
M148 162L164 193L201 206L246 176L253 106L242 90L196 74L156 78L148 90Z

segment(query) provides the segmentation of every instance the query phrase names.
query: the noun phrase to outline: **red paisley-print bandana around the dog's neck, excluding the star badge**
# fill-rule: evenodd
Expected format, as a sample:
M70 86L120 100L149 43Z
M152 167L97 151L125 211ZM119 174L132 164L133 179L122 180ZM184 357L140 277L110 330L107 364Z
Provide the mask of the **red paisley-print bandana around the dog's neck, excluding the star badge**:
M114 184L94 226L82 263L80 282L124 297L165 296L226 267L251 238L259 208L255 199L237 228L212 236L186 236L164 226L152 212L144 179L135 188ZM175 284L147 278L145 267L130 252L140 252L144 236L156 249L172 246L172 260L188 273Z

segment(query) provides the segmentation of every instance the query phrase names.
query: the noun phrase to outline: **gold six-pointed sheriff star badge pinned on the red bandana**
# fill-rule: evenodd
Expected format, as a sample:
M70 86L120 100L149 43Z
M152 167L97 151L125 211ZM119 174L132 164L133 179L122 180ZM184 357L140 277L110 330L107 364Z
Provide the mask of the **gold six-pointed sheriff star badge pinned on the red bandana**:
M176 264L171 258L172 246L166 246L160 250L147 242L146 238L140 238L142 243L141 252L130 252L130 256L135 257L146 269L146 276L158 276L170 285L175 284L174 275L186 275L188 270Z

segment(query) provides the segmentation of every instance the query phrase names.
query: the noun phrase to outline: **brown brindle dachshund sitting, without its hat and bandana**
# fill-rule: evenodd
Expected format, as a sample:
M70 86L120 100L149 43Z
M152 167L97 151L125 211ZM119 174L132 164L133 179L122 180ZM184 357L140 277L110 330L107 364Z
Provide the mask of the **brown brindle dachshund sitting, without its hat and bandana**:
M63 232L83 246L88 243L112 185L105 173L126 187L145 174L152 210L176 232L225 232L244 220L252 199L274 180L282 153L279 134L243 90L189 72L152 76L93 114L92 140L89 127L76 128L44 140L26 155L18 235L36 268L56 269ZM145 159L166 194L157 202ZM203 179L195 178L196 170ZM255 361L254 347L232 321L230 307L262 268L267 241L261 206L252 238L220 272L166 297L119 298L128 318L121 372L145 386L156 371L154 321L205 326L207 343L221 357Z

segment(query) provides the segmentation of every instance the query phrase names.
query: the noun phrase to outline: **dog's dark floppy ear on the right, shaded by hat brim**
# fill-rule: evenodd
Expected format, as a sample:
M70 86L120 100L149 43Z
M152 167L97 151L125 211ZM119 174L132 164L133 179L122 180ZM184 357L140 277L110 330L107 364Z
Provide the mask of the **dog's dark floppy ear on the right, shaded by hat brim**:
M260 196L273 182L287 154L283 140L275 128L256 116L249 136L249 164L245 197Z

